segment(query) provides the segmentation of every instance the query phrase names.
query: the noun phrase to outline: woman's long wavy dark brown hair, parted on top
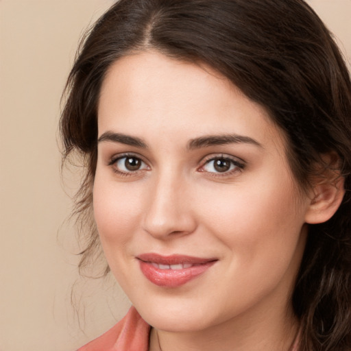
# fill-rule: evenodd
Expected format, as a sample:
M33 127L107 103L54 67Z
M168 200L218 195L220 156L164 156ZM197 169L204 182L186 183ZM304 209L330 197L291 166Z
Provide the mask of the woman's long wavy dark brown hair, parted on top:
M302 324L302 351L350 350L351 83L328 29L302 0L115 3L82 42L60 124L64 158L78 152L86 161L77 194L83 221L92 218L101 82L112 62L146 49L205 62L267 108L285 132L287 156L302 189L322 154L339 156L346 195L329 221L309 227L292 304ZM95 226L89 226L81 268L99 246Z

